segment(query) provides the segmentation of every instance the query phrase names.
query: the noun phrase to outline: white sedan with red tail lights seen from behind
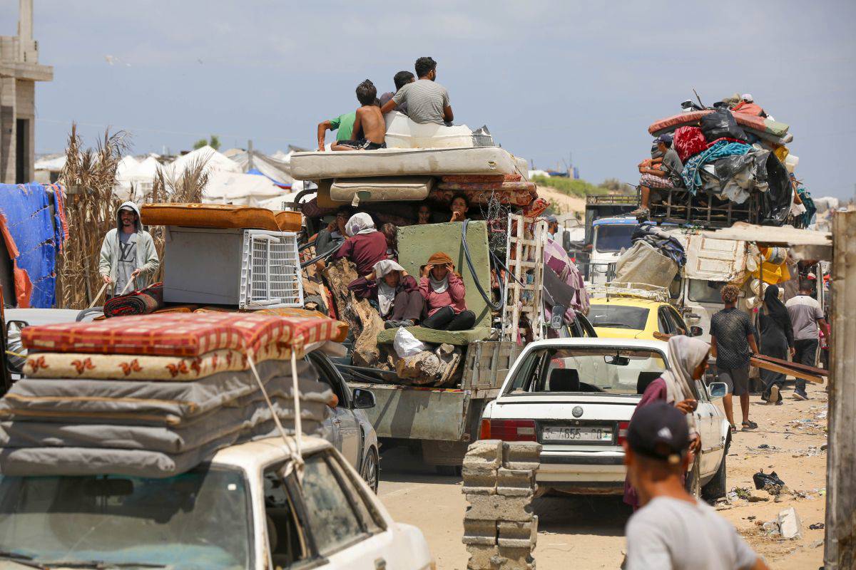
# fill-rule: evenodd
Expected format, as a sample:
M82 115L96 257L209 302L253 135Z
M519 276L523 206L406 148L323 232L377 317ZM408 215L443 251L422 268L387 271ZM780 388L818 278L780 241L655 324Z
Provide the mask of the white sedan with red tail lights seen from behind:
M620 494L621 443L645 387L668 366L666 343L622 338L557 338L528 344L482 415L479 437L544 445L541 491ZM704 498L726 491L730 431L725 414L697 381L701 454L691 483Z

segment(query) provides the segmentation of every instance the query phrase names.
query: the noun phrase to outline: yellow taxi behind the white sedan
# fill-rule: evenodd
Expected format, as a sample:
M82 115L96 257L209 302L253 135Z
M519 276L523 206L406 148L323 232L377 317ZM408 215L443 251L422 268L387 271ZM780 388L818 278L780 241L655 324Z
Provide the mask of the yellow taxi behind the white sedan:
M698 326L687 326L669 303L636 297L595 297L588 319L598 338L647 338L654 332L698 336Z

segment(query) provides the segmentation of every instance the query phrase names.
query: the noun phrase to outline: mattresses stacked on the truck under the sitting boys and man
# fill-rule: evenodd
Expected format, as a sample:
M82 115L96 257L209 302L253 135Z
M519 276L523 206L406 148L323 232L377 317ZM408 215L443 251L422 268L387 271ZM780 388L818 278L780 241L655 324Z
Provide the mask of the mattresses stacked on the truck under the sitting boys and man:
M457 193L470 203L526 206L537 197L526 180L526 161L497 146L298 152L298 179L318 183L318 206L431 199L449 203Z

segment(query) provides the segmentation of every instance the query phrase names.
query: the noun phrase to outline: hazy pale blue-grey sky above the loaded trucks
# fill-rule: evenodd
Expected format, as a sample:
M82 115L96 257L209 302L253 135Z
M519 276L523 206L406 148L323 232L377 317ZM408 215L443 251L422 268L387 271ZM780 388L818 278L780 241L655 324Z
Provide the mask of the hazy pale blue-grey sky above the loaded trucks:
M455 119L487 124L536 167L573 153L593 182L638 179L646 127L695 88L704 103L750 92L791 125L815 196L856 188L856 3L842 2L58 2L36 0L54 80L37 90L37 150L72 120L93 142L131 132L134 152L175 152L216 133L266 152L312 146L315 126L439 62ZM0 0L14 34L16 0ZM110 63L108 60L110 60Z

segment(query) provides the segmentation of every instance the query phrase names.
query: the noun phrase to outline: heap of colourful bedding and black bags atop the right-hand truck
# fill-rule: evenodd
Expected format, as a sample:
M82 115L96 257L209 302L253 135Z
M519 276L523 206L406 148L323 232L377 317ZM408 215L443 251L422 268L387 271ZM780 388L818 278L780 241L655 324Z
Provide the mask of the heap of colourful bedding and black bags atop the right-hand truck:
M683 163L681 181L690 194L701 191L742 204L759 192L758 221L781 226L794 198L783 164L785 144L794 136L787 124L761 115L764 110L756 103L730 97L713 109L658 120L648 132L672 134L672 147Z

